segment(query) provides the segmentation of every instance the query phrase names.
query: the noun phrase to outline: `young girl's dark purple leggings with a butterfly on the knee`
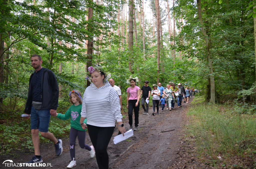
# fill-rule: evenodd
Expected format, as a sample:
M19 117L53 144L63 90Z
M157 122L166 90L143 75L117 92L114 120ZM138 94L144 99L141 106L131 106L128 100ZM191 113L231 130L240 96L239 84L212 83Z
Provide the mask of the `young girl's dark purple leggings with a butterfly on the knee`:
M73 160L73 158L75 158L75 160L76 160L75 146L76 146L77 137L78 137L79 146L82 149L86 149L86 150L89 150L89 151L91 150L91 147L84 143L85 142L85 135L86 135L86 130L81 131L81 130L74 129L73 127L70 128L70 132L69 132L69 141L70 141L69 146L70 146L70 149L69 149L69 152L70 152L71 161Z

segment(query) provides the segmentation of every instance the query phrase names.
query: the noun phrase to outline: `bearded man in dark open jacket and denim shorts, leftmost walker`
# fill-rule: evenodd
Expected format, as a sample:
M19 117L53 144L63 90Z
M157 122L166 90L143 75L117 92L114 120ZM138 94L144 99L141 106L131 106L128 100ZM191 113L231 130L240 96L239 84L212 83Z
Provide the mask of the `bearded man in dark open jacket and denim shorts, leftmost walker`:
M55 144L56 155L62 153L62 140L57 140L51 132L48 132L50 111L56 113L59 99L59 86L54 73L42 67L40 55L31 56L31 65L35 72L29 78L28 98L25 113L30 115L31 134L35 149L34 157L26 163L43 162L40 154L39 132L44 138L48 138Z

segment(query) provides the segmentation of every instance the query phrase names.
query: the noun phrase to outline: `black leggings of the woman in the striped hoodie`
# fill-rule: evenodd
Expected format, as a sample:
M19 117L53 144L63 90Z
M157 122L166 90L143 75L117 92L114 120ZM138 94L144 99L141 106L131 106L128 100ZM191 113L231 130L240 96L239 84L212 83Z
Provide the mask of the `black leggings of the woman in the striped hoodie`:
M95 149L99 169L108 169L109 155L107 148L115 127L97 127L89 124L87 127L92 145Z

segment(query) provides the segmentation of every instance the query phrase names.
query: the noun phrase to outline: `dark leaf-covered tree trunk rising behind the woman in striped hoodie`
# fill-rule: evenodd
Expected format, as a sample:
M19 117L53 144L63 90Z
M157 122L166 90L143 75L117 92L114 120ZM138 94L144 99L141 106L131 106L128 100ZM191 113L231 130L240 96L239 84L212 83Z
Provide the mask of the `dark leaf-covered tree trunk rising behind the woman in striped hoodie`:
M90 0L89 1L89 8L88 8L88 31L92 28L91 26L91 22L93 20L93 10L92 10L92 4L93 4L93 1ZM92 47L93 47L93 37L92 39L88 40L88 45L87 45L87 67L90 67L92 66ZM86 70L88 71L88 70ZM87 84L86 84L86 87L90 86L90 82L89 80L87 80Z

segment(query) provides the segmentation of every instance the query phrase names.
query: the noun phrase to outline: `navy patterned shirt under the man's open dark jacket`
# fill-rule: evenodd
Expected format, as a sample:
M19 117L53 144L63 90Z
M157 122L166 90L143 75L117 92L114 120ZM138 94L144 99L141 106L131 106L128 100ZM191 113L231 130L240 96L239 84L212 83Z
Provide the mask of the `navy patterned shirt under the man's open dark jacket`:
M32 77L32 101L34 102L42 102L42 74L44 70L40 69L39 71L35 72Z

